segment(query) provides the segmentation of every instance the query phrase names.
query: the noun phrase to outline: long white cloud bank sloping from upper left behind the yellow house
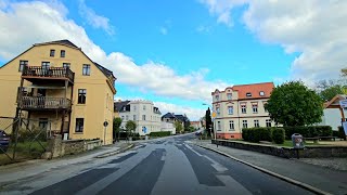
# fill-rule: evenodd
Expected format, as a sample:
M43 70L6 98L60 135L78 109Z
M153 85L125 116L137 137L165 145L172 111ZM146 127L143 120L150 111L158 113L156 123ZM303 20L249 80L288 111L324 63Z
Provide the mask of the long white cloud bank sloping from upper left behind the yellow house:
M92 42L85 29L50 4L31 1L11 3L0 10L0 57L11 60L33 43L69 39L93 61L114 72L121 82L157 95L210 102L210 92L224 89L226 82L206 81L208 69L179 75L160 63L138 65L120 52L106 54ZM29 30L28 30L29 29Z

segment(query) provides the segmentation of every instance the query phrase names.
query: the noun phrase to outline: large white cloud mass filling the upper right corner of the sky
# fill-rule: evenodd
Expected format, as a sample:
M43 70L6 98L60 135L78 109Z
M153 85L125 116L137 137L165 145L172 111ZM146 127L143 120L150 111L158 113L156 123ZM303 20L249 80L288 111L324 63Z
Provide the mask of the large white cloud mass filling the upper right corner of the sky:
M261 41L298 53L292 79L312 84L336 78L347 64L347 1L338 0L201 0L219 23L231 24L232 10L242 4L246 27Z

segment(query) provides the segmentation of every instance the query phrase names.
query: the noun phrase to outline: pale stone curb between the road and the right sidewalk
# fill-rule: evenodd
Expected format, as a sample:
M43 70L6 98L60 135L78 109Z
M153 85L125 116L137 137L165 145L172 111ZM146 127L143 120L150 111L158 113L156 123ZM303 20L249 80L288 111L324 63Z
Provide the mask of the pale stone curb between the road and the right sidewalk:
M309 184L299 182L299 181L297 181L297 180L294 180L294 179L287 178L287 177L285 177L285 176L275 173L275 172L273 172L273 171L270 171L270 170L268 170L268 169L261 168L261 167L259 167L259 166L249 164L249 162L247 162L247 161L244 161L244 160L242 160L242 159L239 159L239 158L236 158L236 157L233 157L233 156L231 156L231 155L229 155L229 154L227 154L227 153L223 153L223 152L220 152L220 151L217 151L217 150L214 150L214 148L209 148L209 147L206 147L206 146L203 146L203 145L198 145L198 144L195 144L195 145L196 145L196 146L200 146L200 147L202 147L202 148L205 148L205 150L213 151L213 152L218 153L218 154L220 154L220 155L227 156L227 157L229 157L229 158L231 158L231 159L233 159L233 160L235 160L235 161L242 162L242 164L247 165L247 166L249 166L249 167L252 167L252 168L254 168L254 169L257 169L257 170L259 170L259 171L261 171L261 172L265 172L265 173L267 173L267 174L270 174L270 176L272 176L272 177L275 177L275 178L280 179L280 180L286 181L286 182L288 182L288 183L292 183L292 184L294 184L294 185L297 185L297 186L299 186L299 187L303 187L303 188L305 188L305 190L308 190L308 191L310 191L310 192L312 192L312 193L314 193L314 194L332 195L331 193L327 193L327 192L325 192L325 191L322 191L322 190L320 190L320 188L317 188L317 187L314 187L314 186L312 186L312 185L309 185Z

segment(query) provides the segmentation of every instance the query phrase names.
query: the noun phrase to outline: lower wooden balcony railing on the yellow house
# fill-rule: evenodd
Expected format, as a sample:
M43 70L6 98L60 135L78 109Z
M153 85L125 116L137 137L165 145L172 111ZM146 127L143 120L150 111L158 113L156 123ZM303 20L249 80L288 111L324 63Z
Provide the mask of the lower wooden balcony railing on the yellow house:
M64 98L22 96L18 106L22 109L70 109L72 101Z

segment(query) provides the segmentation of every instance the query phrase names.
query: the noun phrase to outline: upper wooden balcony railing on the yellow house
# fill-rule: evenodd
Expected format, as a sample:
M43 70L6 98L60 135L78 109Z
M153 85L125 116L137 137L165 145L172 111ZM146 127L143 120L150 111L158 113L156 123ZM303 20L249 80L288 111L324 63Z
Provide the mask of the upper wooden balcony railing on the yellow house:
M49 67L25 66L22 76L41 77L41 78L67 78L70 81L75 79L75 73L68 67Z

